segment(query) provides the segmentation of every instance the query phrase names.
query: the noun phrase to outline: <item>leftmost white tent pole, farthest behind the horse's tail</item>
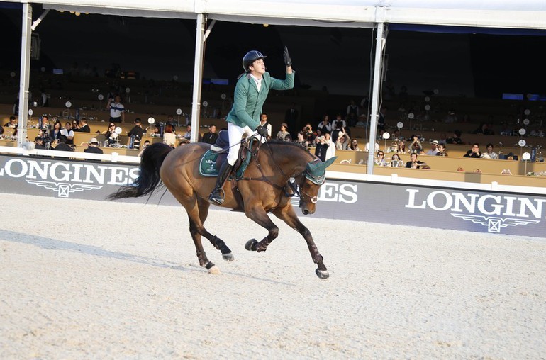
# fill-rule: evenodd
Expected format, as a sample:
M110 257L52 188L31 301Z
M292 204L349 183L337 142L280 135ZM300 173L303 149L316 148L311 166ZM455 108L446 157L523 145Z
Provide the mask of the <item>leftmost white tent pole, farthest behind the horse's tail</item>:
M23 3L23 26L21 28L21 71L19 79L19 117L17 121L17 146L26 142L28 122L28 84L30 82L30 38L32 30L32 6Z

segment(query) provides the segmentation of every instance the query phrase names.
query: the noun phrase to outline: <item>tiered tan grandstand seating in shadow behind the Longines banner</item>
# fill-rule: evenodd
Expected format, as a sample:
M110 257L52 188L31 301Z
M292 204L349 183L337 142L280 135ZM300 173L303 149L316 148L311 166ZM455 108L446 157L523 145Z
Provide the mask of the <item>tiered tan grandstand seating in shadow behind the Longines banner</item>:
M9 74L0 74L4 79L9 78ZM89 127L91 133L77 133L74 137L74 144L80 145L87 142L91 137L97 137L101 141L101 135L106 131L108 125L109 113L104 109L106 101L99 101L98 94L106 95L108 93L108 84L106 81L111 79L82 77L70 78L67 76L58 76L52 74L43 74L33 72L30 77L33 99L37 99L39 95L38 89L40 86L45 86L46 91L50 94L50 106L41 108L39 106L31 106L34 114L30 117L30 125L36 125L38 117L44 113L52 116L57 116L62 122L76 116L76 109L80 117L89 119ZM165 121L167 115L173 115L174 119L180 124L186 123L187 113L191 113L191 84L182 84L174 81L146 81L146 80L116 80L123 86L130 88L130 92L126 94L124 105L128 109L126 113L126 123L119 124L122 128L121 144L128 142L126 133L133 127L135 118L140 118L143 121L143 128L147 127L147 119L155 118L156 122ZM9 116L13 113L13 102L16 99L18 91L18 83L13 81L0 82L0 125L8 122ZM222 100L221 94L226 94L229 99L233 94L233 86L204 86L201 99L208 101L208 108L202 108L202 118L200 119L201 134L205 133L206 126L214 124L218 130L225 127L223 116L227 113L228 100ZM269 114L270 122L274 132L280 127L280 123L284 121L284 111L290 103L296 103L299 106L301 113L301 124L311 123L313 128L319 123L322 114L328 113L334 116L335 113L344 113L348 100L352 96L329 95L324 91L298 90L287 91L271 94L264 106L264 111ZM31 101L33 101L31 99ZM72 107L65 108L65 102L71 101ZM31 103L32 104L32 103ZM425 104L430 105L430 111L413 111L416 118L408 119L409 108L421 109ZM403 122L401 135L408 137L415 134L423 137L423 147L428 150L428 142L430 140L439 140L440 134L445 133L447 137L452 136L454 130L462 132L462 140L465 145L447 145L449 157L427 157L421 155L419 159L427 162L431 170L421 169L393 169L389 167L375 167L374 174L399 174L400 176L420 176L423 174L430 179L449 179L456 181L513 181L520 184L522 181L527 183L541 181L545 178L542 176L524 176L527 172L546 173L545 162L525 162L509 161L509 160L491 160L491 159L465 159L462 155L470 149L469 144L478 142L481 145L481 150L484 151L487 143L495 145L495 151L501 154L512 152L520 156L522 152L530 152L531 147L546 147L546 137L530 136L530 131L535 130L539 133L542 130L542 122L545 122L545 113L543 113L542 103L539 102L522 102L522 101L503 101L501 99L469 99L464 97L443 98L441 96L431 96L430 101L425 101L424 96L409 96L407 99L396 99L394 101L386 101L381 105L388 106L389 112L386 119L390 125L387 131L393 132L396 123ZM175 113L177 108L181 108L184 115L178 117ZM523 109L529 108L530 115L523 115ZM450 111L456 111L459 122L446 123L445 118ZM464 115L468 115L472 122L462 123ZM213 116L215 115L215 116ZM509 118L512 116L512 118ZM520 118L520 124L516 120ZM530 123L523 125L523 118L529 118ZM511 123L508 121L512 119ZM493 123L493 128L496 135L481 135L472 133L478 128L479 123L486 121ZM514 136L519 128L526 128L528 133L524 136ZM184 128L177 128L177 131L182 132ZM294 129L289 129L294 130ZM501 130L504 135L500 135ZM99 133L97 133L99 132ZM351 135L357 138L360 147L364 148L367 142L367 131L365 128L351 128ZM294 130L295 133L295 130ZM511 134L510 136L506 133ZM29 128L28 139L33 138L38 134L38 130ZM517 142L520 138L524 138L527 142L527 147L518 147ZM161 141L157 137L150 137L150 141ZM392 140L378 140L379 146L383 149L393 144ZM0 145L13 145L13 141L1 140ZM540 152L540 150L538 150ZM133 150L120 148L106 148L105 152L118 152L120 154L132 154ZM343 171L365 173L365 165L357 165L359 162L367 161L367 152L346 152L338 151L338 160L333 165L335 169L343 169ZM386 157L389 158L389 152L386 152ZM403 161L408 161L408 154L402 154ZM342 160L350 160L351 164L339 164ZM458 168L464 171L457 171ZM481 174L473 171L479 169ZM500 175L501 171L509 169L512 176Z

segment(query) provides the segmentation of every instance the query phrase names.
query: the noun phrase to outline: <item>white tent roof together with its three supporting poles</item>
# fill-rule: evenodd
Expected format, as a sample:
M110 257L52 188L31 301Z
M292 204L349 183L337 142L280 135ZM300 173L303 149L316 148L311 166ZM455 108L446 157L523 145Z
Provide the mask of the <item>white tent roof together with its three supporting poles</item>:
M269 23L274 25L374 28L374 79L369 143L374 144L379 105L382 50L389 24L461 26L472 28L511 28L546 30L546 1L491 0L41 0L11 1L23 4L21 38L21 84L19 96L18 143L26 139L28 81L30 69L30 34L49 10L77 11L108 15L155 18L189 18L196 20L194 94L192 99L192 140L197 139L201 108L201 64L206 32L214 21ZM43 4L45 13L33 24L32 5ZM208 20L212 22L208 24ZM208 26L207 26L208 24ZM369 164L373 163L369 153ZM372 174L373 167L367 168Z

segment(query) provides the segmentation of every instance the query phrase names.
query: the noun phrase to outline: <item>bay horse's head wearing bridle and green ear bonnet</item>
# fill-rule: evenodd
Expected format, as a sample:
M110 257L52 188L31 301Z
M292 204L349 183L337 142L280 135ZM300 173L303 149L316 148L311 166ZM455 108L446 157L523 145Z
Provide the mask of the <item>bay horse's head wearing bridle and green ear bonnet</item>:
M326 168L334 162L336 157L321 162L316 159L306 164L305 171L299 181L299 207L303 215L315 213L318 189L326 179Z

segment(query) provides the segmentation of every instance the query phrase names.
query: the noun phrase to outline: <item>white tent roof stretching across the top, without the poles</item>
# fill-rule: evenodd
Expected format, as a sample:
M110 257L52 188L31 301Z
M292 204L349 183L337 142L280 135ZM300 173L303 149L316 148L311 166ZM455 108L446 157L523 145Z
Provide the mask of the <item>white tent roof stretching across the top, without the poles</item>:
M6 0L26 2L25 0ZM246 23L372 27L400 23L480 28L546 29L546 1L491 0L41 0L45 9Z

